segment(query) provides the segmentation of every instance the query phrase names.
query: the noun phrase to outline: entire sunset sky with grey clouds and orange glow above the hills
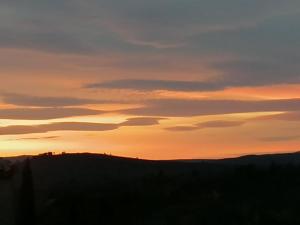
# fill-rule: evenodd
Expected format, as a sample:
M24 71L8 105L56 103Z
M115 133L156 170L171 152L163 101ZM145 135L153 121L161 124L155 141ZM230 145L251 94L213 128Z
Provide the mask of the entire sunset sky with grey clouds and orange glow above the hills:
M300 150L300 1L0 1L0 156Z

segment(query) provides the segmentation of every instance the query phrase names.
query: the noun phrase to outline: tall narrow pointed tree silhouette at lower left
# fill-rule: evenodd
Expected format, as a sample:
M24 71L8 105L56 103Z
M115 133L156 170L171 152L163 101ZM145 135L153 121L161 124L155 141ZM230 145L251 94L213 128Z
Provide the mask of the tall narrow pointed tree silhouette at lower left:
M35 199L30 160L24 162L19 192L17 225L35 225Z

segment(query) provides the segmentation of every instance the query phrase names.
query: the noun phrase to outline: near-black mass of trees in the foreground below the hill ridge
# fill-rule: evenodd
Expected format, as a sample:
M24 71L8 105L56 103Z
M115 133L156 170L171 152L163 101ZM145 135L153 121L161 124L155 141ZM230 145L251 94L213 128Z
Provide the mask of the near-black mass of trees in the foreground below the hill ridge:
M222 167L205 176L158 170L96 190L53 190L38 224L300 224L300 166ZM51 200L51 201L50 201Z

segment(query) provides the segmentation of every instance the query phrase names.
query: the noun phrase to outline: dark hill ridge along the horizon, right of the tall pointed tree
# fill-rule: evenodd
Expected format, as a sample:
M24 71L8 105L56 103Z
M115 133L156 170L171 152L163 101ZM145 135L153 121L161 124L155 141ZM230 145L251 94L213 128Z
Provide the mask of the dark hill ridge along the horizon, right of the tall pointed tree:
M141 160L103 154L62 154L32 157L32 169L38 189L96 188L113 182L130 181L143 176L185 176L193 171L214 176L243 165L269 166L299 164L300 153L249 155L221 160Z

